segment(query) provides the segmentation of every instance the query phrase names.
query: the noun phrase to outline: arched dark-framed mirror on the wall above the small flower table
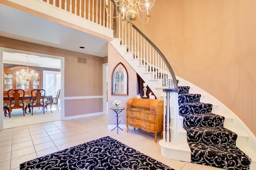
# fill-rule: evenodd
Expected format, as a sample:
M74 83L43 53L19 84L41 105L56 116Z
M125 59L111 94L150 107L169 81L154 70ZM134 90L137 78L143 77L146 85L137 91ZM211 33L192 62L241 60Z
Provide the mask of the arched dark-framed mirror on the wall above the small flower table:
M122 63L117 64L112 74L112 95L128 96L128 74Z

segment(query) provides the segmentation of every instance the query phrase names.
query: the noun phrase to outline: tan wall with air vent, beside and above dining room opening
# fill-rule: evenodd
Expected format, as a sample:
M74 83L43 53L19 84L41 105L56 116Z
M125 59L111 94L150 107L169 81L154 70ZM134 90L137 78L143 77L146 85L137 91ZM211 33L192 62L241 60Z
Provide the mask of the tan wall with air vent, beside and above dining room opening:
M0 37L0 47L64 57L65 97L102 96L103 59L101 57L28 43L6 37ZM77 63L77 57L86 58L87 64ZM78 104L81 104L81 102L82 106L77 106ZM103 111L102 98L65 100L64 107L65 116L82 115L86 113L97 113Z

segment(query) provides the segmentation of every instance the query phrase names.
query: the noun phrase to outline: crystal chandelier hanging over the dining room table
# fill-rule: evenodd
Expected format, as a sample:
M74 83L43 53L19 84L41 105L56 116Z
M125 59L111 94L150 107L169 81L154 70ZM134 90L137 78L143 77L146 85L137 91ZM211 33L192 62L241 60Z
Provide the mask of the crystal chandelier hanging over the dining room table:
M29 72L28 70L28 56L27 57L27 69L22 69L20 72L17 72L17 82L20 84L28 84L30 80L33 80L37 78L38 74L36 73L34 75L34 70Z

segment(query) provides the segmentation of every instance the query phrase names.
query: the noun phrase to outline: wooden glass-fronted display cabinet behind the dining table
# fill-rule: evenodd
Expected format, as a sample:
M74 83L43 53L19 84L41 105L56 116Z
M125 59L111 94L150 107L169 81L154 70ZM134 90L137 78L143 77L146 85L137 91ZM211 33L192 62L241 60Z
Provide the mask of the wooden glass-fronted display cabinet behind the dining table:
M26 66L4 68L4 95L7 95L7 91L12 88L21 88L25 90L25 94L28 94L28 89L41 88L41 71L28 68L29 72L34 72L33 80L28 80L25 82L17 80L18 73L20 74L22 70L26 71L26 69Z

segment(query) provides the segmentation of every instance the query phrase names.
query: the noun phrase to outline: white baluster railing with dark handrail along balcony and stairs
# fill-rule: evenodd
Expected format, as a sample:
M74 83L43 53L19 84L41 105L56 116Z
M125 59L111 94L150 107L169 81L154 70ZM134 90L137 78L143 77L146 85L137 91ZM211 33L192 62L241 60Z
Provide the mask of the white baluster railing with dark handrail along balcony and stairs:
M152 72L152 79L157 79L158 87L163 88L164 95L164 140L176 143L178 131L178 84L175 74L161 51L135 25L124 24L122 16L109 17L104 8L104 0L38 0L73 15L92 21L114 30L114 38L121 39L121 45L127 45L127 51L134 53L134 59L146 66L146 72ZM108 0L110 15L118 13ZM114 11L116 10L116 11Z

